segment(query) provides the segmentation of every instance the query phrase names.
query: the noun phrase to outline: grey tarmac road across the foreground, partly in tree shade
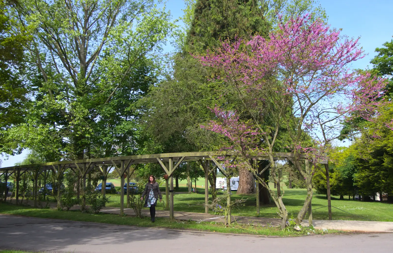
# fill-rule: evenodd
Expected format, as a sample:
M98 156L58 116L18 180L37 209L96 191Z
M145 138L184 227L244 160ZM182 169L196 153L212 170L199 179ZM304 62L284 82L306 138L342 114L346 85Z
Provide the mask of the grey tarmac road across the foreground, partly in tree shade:
M0 249L73 253L392 252L393 233L270 238L0 215Z

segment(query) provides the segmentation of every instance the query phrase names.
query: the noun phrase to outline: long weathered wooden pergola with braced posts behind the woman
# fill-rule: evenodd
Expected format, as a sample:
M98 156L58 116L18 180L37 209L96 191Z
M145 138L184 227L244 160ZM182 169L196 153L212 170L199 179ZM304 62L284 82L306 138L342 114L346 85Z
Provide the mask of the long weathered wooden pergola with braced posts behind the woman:
M292 160L294 158L294 154L291 152L274 152L274 160ZM167 209L169 208L170 218L173 219L173 172L178 168L181 163L196 161L200 163L200 168L205 172L205 213L208 213L208 202L209 202L209 181L208 176L213 170L219 169L221 173L227 178L227 191L230 192L230 177L233 173L233 170L230 168L225 168L222 164L217 161L219 158L223 159L235 159L237 153L235 152L216 152L216 151L205 151L205 152L180 152L180 153L165 153L165 154L145 154L145 155L134 155L134 156L116 156L116 157L106 157L106 158L93 158L93 159L83 159L83 160L72 160L72 161L57 161L50 163L40 163L40 164L29 164L29 165L19 165L12 167L4 167L0 168L0 172L5 174L5 180L14 174L16 178L16 200L18 203L18 195L19 195L19 180L20 176L26 171L30 171L32 173L34 180L33 191L35 191L34 202L37 205L37 181L38 176L47 170L51 170L53 175L57 179L58 182L61 181L64 172L66 169L70 168L74 172L79 173L81 178L83 178L83 186L82 190L86 189L86 175L92 170L94 167L98 167L98 169L103 174L103 186L102 192L105 194L105 185L109 171L114 168L121 176L121 188L125 184L124 180L127 178L127 207L129 207L129 181L130 176L135 171L139 164L146 163L158 163L160 167L164 170L164 172L168 175L168 178L165 180L165 205ZM250 159L255 160L269 160L269 157L266 156L257 156L250 157ZM307 155L301 155L300 159L308 159ZM328 161L327 158L321 159L318 161L321 164L325 164L325 168L327 172L328 170ZM187 163L188 164L188 163ZM187 165L188 166L188 165ZM266 167L269 167L270 164ZM327 186L328 186L328 205L329 205L329 218L331 219L331 207L330 207L330 187L329 187L329 174L327 174ZM258 184L257 184L258 185ZM45 187L45 186L44 186ZM58 185L60 187L60 185ZM60 188L58 188L60 189ZM257 190L259 192L259 190ZM58 205L60 205L60 197L61 191L58 191ZM230 201L230 194L228 196ZM259 198L257 197L257 208L259 207ZM259 212L259 210L257 210ZM124 191L121 189L120 191L120 215L124 213ZM231 220L230 214L228 217L228 221Z

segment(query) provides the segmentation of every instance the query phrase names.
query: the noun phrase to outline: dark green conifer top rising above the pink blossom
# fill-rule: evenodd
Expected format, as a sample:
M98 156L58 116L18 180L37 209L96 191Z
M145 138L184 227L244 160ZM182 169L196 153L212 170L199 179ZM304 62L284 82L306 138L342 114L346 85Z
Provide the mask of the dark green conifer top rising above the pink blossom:
M235 37L266 36L270 27L257 0L197 0L185 51L204 53Z

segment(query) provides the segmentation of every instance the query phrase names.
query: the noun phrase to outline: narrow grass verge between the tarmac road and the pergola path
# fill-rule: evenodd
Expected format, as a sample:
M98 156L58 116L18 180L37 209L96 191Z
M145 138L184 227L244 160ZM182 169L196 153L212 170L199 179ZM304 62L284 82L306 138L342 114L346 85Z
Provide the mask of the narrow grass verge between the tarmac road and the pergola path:
M26 206L17 206L12 204L1 203L0 214L11 214L19 216L28 216L36 218L51 218L59 220L73 220L81 222L97 222L115 225L139 226L139 227L155 227L168 229L184 229L191 231L207 231L217 233L235 233L248 235L264 235L264 236L301 236L309 234L326 234L326 233L343 233L336 230L318 230L309 227L303 228L301 231L283 231L278 227L263 227L237 225L224 226L217 222L195 222L195 221L171 221L167 218L156 218L156 222L152 223L149 217L140 219L131 216L119 216L116 214L92 214L81 213L80 211L57 211L56 209L36 209Z

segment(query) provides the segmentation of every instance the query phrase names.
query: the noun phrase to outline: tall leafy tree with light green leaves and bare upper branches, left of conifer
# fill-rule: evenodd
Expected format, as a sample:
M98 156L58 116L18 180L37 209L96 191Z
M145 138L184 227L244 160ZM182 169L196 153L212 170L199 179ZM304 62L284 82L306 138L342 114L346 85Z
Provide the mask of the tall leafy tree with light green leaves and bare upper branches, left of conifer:
M10 139L53 160L134 152L137 113L126 108L154 82L169 12L153 0L21 0L13 11L33 33L37 91Z

